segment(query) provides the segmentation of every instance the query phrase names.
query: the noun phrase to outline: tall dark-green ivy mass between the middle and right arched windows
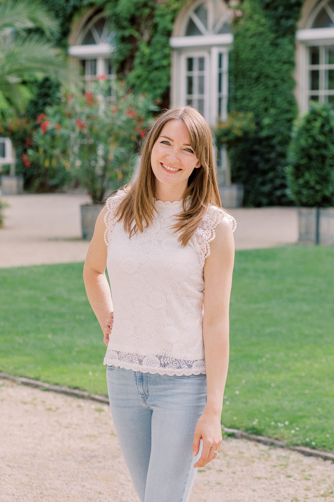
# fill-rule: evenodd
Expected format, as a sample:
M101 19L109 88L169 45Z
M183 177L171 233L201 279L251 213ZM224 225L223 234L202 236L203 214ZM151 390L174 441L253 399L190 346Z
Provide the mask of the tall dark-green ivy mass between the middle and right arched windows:
M231 179L246 206L291 204L284 166L297 114L292 77L302 0L245 0L229 58L229 111L252 112L256 129L230 151Z

